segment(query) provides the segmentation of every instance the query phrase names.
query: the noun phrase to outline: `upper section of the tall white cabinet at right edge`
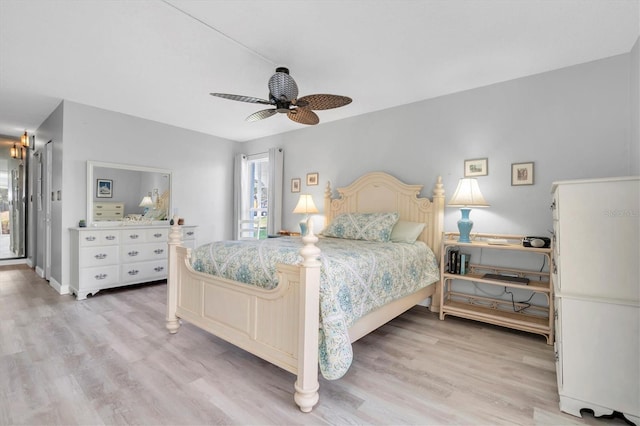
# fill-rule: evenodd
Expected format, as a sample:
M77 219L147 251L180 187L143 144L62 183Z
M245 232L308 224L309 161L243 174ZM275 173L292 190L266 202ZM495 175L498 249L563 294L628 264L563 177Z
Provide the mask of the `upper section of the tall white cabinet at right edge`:
M576 181L554 198L562 293L639 300L639 181Z

